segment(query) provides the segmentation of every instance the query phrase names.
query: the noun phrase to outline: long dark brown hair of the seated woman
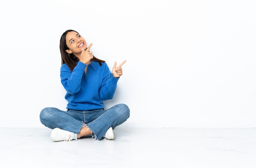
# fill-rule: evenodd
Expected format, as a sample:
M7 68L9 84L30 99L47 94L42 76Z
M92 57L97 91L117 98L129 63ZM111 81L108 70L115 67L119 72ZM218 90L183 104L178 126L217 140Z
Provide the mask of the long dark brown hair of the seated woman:
M61 65L66 63L67 66L70 68L70 70L73 71L77 62L79 61L79 58L76 57L73 53L69 54L66 52L66 50L69 50L69 48L67 47L67 44L66 44L66 35L70 31L74 31L74 30L67 30L61 35L61 40L60 40ZM77 31L74 31L74 32L78 33ZM100 66L102 65L102 62L106 62L101 59L97 59L94 56L92 58L92 61L98 62Z

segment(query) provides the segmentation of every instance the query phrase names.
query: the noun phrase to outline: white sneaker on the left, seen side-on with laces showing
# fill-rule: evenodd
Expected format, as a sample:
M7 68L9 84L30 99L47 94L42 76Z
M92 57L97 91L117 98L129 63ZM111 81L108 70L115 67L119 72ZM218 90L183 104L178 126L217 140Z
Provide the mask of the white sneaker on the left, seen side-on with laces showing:
M74 137L74 133L65 131L59 128L55 128L52 130L51 139L53 141L65 141L65 142L72 141L72 140L76 141L76 137Z

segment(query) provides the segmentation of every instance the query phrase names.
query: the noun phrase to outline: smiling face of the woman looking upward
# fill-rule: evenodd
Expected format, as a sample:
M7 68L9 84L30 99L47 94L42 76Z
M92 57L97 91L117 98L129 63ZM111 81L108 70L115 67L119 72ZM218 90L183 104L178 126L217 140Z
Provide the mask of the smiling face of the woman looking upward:
M66 50L66 52L70 54L73 53L75 56L81 54L81 48L84 50L87 48L85 39L75 31L70 31L67 33L66 44L69 48L69 50Z

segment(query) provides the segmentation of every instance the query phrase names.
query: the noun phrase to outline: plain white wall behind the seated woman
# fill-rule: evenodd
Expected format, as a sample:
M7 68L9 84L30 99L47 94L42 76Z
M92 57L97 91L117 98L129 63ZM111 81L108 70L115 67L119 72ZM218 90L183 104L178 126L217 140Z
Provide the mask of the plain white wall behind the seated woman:
M123 65L113 100L126 127L256 127L256 1L14 0L0 2L0 127L44 127L65 110L59 39L78 31Z

